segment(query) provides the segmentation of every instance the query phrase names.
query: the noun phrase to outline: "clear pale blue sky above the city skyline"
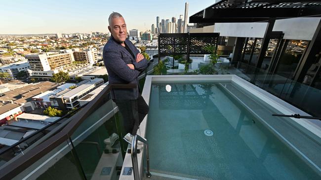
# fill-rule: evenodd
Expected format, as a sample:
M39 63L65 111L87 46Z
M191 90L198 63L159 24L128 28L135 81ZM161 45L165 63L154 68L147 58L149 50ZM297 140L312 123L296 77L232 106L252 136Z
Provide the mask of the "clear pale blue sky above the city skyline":
M0 34L108 32L110 13L119 12L127 30L151 30L156 17L179 19L189 3L188 16L215 0L5 0L0 6Z

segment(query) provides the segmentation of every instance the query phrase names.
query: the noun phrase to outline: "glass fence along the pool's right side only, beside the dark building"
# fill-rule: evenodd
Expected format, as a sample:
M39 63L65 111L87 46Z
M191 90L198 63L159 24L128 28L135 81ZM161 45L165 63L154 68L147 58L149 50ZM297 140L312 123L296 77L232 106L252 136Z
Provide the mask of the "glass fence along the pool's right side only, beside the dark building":
M318 106L321 101L321 90L244 63L239 63L237 69L241 72L237 75L246 81L313 116L321 117Z

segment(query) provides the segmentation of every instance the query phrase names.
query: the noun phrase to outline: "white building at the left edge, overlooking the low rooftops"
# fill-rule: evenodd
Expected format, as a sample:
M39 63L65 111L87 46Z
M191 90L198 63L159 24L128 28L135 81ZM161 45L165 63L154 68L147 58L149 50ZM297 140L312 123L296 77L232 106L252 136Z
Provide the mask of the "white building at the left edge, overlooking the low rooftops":
M0 72L6 72L11 76L11 79L15 79L20 71L28 72L31 66L27 60L11 63L0 67Z

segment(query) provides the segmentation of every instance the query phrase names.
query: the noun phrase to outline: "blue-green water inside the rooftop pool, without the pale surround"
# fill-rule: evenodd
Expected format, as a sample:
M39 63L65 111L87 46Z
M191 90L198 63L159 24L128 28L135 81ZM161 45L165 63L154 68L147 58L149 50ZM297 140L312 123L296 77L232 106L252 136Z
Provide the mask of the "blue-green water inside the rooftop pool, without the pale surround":
M227 85L231 83L152 84L147 139L154 175L198 180L320 179L224 90Z

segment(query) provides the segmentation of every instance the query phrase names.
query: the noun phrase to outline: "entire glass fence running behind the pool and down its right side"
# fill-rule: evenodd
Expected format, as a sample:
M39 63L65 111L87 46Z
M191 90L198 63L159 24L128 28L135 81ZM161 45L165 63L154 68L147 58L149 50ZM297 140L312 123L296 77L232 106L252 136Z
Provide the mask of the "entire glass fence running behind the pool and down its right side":
M156 63L151 75L184 75L184 74L235 74L242 79L251 82L257 87L266 90L282 100L302 109L303 111L317 117L321 117L318 102L321 101L321 90L293 81L278 74L269 73L266 69L256 68L246 63L218 61L215 65L205 62L205 58L199 56L190 57L193 62L186 71L185 64L174 69L167 69L164 65L167 57L162 57L162 64ZM156 59L158 61L158 59ZM170 70L170 72L168 72Z

